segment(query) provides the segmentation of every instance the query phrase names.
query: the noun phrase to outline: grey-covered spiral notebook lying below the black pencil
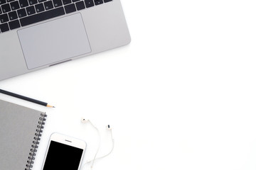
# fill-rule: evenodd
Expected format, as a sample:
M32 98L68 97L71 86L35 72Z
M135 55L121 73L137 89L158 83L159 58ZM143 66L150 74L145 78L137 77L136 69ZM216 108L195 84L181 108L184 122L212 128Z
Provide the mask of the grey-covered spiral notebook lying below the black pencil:
M46 113L0 100L0 169L29 170Z

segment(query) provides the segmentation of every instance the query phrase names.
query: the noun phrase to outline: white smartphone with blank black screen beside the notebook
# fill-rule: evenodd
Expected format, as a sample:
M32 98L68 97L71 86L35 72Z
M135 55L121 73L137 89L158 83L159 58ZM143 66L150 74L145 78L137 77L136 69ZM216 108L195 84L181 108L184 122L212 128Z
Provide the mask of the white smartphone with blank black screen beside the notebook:
M82 164L86 143L74 137L53 133L50 136L42 170L78 170Z

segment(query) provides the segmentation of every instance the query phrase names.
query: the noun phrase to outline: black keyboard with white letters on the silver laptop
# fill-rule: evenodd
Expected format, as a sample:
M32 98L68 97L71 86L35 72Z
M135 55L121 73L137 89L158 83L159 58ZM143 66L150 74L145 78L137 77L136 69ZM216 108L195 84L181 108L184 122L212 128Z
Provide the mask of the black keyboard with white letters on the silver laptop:
M0 0L0 34L112 0Z

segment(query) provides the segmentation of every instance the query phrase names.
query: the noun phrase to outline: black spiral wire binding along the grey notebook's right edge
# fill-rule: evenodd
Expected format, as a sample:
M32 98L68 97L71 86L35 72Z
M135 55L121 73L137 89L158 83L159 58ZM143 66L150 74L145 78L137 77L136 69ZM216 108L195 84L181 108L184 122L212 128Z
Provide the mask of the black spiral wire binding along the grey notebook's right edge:
M33 142L31 145L31 150L29 152L28 161L27 161L25 170L31 170L31 168L33 167L33 163L34 163L33 161L35 160L38 144L39 144L39 141L41 140L41 132L43 132L43 128L44 128L43 125L45 125L46 117L47 117L46 113L41 113L41 118L39 118L38 120L35 137L33 137Z

